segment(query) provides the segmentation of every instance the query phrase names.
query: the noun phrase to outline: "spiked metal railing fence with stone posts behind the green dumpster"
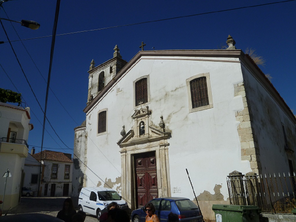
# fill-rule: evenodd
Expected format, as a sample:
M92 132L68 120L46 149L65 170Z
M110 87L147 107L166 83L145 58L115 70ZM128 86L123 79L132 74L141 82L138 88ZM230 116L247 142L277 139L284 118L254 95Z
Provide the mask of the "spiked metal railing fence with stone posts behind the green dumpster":
M231 205L255 205L272 213L290 213L296 207L295 173L235 173L227 176Z

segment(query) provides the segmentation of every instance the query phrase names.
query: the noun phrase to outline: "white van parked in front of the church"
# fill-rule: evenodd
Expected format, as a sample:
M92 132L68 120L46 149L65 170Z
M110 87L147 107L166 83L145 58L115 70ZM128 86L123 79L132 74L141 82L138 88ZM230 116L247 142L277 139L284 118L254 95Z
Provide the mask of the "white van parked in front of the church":
M102 213L108 211L107 207L111 202L118 203L123 210L128 209L127 202L121 199L115 190L105 187L83 187L79 194L78 209L96 215L99 220Z

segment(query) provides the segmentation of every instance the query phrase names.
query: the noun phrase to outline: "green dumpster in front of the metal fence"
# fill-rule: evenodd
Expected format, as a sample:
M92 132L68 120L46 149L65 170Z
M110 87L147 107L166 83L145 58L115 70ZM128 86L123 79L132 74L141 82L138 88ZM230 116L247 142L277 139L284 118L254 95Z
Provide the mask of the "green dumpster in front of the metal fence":
M259 222L260 208L247 205L213 204L216 222Z

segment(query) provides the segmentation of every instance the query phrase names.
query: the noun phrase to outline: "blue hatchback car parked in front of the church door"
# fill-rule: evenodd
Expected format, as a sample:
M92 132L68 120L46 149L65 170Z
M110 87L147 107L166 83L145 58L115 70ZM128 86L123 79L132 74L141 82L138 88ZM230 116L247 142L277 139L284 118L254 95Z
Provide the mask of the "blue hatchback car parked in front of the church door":
M202 222L200 209L188 198L166 197L155 198L151 201L155 207L155 214L160 222L168 222L170 212L177 214L179 222ZM131 213L132 222L145 222L146 213L144 207L133 210Z

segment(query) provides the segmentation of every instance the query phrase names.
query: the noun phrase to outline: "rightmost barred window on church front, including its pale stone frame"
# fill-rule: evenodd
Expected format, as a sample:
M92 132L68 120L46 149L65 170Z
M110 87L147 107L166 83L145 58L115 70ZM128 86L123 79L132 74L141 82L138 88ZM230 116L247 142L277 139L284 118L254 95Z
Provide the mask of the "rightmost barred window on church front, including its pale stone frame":
M210 73L201 73L186 79L189 112L213 107Z

